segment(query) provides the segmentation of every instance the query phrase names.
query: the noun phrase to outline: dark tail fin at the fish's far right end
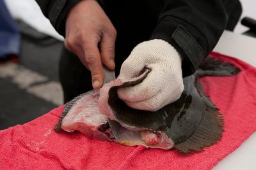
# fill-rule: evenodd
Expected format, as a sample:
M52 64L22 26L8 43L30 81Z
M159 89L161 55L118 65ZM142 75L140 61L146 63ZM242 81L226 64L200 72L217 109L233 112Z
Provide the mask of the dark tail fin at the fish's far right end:
M221 61L214 57L207 57L200 64L195 74L198 76L234 76L240 71L241 69L231 63Z

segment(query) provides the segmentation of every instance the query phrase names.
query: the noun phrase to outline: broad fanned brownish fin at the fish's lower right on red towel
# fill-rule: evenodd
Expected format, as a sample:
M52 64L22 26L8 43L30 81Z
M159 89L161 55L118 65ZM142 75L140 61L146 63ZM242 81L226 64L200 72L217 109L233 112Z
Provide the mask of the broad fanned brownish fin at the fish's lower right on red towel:
M174 148L182 153L202 152L204 148L214 145L221 139L223 125L224 119L221 113L207 106L196 131Z

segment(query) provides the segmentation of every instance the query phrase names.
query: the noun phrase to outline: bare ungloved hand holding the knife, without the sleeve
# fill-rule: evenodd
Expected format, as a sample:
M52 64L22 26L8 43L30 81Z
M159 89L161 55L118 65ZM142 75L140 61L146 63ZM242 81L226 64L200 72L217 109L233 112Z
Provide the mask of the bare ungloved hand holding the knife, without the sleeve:
M93 89L104 81L102 64L115 69L115 39L115 27L97 1L83 0L68 13L65 46L91 71Z

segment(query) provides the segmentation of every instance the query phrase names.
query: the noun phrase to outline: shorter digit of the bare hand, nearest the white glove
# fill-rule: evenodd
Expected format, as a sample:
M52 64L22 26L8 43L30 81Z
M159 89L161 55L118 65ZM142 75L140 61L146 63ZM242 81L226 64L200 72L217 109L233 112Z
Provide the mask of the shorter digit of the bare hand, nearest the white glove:
M115 36L105 33L100 42L100 56L102 63L108 69L115 69Z

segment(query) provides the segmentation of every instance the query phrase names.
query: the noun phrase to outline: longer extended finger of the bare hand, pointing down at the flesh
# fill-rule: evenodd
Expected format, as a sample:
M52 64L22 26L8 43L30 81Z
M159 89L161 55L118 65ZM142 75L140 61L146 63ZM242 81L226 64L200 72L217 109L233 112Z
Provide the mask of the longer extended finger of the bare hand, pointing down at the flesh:
M93 89L99 89L102 86L102 82L104 81L100 52L97 43L97 41L93 40L86 41L83 48L85 62L92 74Z

